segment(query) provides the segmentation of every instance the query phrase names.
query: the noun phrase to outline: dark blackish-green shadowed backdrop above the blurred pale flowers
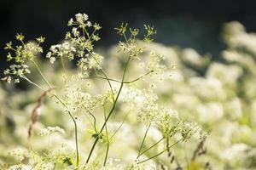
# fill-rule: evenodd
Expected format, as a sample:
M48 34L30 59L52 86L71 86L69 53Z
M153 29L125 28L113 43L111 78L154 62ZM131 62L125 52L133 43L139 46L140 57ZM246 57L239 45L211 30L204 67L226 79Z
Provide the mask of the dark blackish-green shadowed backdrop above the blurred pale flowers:
M241 22L247 31L256 31L255 1L250 0L168 0L168 1L99 1L99 0L24 0L0 1L0 70L5 68L3 47L22 32L28 39L47 37L44 48L61 41L67 31L67 20L77 13L86 13L99 22L102 41L99 46L117 42L113 28L121 22L142 27L154 25L156 42L195 48L200 54L219 59L224 49L221 32L224 23Z

